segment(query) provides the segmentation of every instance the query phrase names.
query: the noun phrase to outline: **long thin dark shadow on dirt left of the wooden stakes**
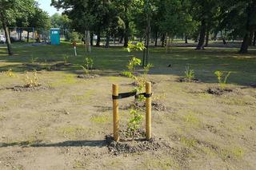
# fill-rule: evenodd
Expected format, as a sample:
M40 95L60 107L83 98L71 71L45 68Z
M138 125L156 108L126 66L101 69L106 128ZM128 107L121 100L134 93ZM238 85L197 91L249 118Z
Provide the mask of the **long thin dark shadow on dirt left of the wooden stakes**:
M18 146L18 147L99 147L102 148L106 146L106 140L67 140L59 143L53 144L46 144L42 143L42 140L35 140L34 142L31 141L22 141L22 142L13 142L13 143L0 143L0 148L6 148L11 146Z

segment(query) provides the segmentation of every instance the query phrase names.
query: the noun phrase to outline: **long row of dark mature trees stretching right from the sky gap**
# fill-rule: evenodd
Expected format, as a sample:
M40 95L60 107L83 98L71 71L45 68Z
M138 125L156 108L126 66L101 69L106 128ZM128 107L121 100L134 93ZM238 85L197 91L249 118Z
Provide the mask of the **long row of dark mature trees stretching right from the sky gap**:
M210 34L221 33L223 42L224 35L243 38L240 52L247 53L256 39L256 0L52 0L52 6L65 10L74 30L97 34L96 45L105 35L106 47L110 36L127 46L129 38L148 39L150 34L156 45L159 38L165 45L167 39L185 36L204 49Z

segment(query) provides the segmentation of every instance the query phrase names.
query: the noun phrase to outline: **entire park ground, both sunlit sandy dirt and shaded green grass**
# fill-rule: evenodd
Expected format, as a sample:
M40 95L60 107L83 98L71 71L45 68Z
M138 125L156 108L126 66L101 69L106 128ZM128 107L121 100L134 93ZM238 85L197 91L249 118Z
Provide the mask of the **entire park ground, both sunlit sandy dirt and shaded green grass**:
M150 49L148 80L152 85L153 136L166 141L167 148L112 155L106 135L113 132L111 86L119 92L134 89L133 81L120 77L133 53L121 47L92 48L98 74L78 78L84 58L68 43L59 46L14 45L14 56L0 46L0 71L14 70L14 77L0 74L0 169L254 169L256 90L240 85L256 82L256 57L238 49L163 48ZM136 52L135 56L142 57ZM69 56L72 65L47 69ZM34 63L31 63L31 58ZM168 65L171 65L169 68ZM186 65L203 83L179 82ZM24 71L38 69L32 91L15 91L25 85ZM214 95L215 70L232 71L227 85L231 92ZM31 73L28 73L30 77ZM233 85L234 84L234 85ZM120 126L126 129L133 97L119 101ZM144 111L142 112L144 114ZM141 125L145 129L145 115ZM54 161L53 161L54 160Z

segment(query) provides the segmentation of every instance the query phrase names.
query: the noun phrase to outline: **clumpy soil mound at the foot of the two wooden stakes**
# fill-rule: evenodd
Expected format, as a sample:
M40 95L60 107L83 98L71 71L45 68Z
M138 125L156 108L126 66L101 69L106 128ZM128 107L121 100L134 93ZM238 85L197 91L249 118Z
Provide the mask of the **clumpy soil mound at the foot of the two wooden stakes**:
M123 153L153 152L163 148L170 148L162 138L154 136L152 139L146 140L145 137L139 138L138 136L135 136L135 139L131 140L130 138L126 138L125 133L126 132L120 132L121 140L118 142L114 141L113 136L106 136L106 145L110 153L120 155Z

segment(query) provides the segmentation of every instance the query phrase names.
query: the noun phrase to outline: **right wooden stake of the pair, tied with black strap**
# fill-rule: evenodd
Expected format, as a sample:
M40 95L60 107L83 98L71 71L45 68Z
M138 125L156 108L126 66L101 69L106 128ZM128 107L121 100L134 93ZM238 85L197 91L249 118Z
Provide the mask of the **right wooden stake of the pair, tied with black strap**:
M151 82L146 82L146 94L151 95ZM146 140L151 139L151 97L146 97Z

